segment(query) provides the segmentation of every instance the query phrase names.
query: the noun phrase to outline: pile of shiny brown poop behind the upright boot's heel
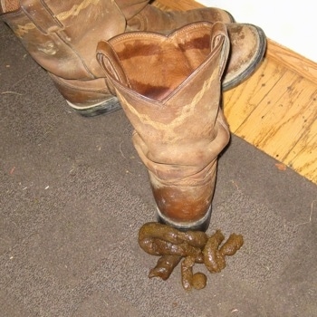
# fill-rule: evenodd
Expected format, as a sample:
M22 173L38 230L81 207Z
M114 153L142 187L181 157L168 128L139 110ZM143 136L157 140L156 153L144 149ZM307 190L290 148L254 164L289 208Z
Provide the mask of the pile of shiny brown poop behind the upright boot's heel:
M220 230L207 235L202 231L179 231L178 229L149 222L139 229L139 246L149 255L159 256L158 263L149 271L149 278L164 281L181 262L181 281L185 290L206 287L206 274L193 273L195 264L205 264L210 273L219 273L226 267L226 256L235 255L244 244L242 235L231 234L226 242Z

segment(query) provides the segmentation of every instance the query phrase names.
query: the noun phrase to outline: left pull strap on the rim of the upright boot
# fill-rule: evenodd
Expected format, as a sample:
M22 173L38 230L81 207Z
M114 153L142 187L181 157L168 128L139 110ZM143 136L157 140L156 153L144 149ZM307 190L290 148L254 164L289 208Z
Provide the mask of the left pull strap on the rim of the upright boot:
M97 60L101 64L102 69L112 78L125 86L130 87L130 82L124 73L119 57L114 52L109 42L101 41L97 45Z

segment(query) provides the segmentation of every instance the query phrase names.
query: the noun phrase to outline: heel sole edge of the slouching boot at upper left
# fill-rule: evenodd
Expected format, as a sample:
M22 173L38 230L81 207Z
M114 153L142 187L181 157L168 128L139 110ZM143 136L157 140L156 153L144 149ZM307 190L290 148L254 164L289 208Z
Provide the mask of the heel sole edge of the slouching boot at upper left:
M81 114L83 117L95 117L101 114L109 114L121 109L120 101L118 101L117 97L111 97L106 101L101 101L100 103L86 107L78 106L70 101L67 101L67 103L73 110Z

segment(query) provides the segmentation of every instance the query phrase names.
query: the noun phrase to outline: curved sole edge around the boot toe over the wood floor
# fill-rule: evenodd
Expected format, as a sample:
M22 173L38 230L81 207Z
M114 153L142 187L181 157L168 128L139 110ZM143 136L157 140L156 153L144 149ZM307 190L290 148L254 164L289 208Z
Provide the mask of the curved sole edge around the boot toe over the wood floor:
M233 80L222 83L223 91L229 91L238 86L240 83L245 82L245 80L251 77L251 75L261 65L261 61L263 60L264 53L266 51L266 36L264 34L264 31L260 27L257 27L256 25L253 26L256 28L259 35L259 49L257 51L257 54L255 55L253 62L250 63L250 65L245 69L244 72L238 74Z

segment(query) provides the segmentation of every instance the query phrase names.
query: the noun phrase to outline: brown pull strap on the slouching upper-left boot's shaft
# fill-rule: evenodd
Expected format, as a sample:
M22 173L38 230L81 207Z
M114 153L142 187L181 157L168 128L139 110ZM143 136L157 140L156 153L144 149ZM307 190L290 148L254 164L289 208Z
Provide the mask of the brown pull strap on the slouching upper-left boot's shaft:
M21 1L20 4L24 14L43 34L62 30L63 25L43 1L24 0Z

